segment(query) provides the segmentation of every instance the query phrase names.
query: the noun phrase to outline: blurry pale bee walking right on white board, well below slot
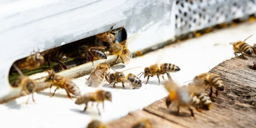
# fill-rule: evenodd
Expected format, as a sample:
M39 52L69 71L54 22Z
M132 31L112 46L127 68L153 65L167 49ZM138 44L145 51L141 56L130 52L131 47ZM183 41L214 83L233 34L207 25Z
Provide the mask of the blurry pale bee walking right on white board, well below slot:
M85 104L85 109L83 109L83 111L86 111L88 102L98 102L97 109L98 109L98 112L100 115L98 106L99 106L99 103L101 102L103 105L102 107L104 109L104 100L109 100L110 102L112 101L111 92L107 92L104 90L98 90L96 92L86 93L85 95L82 95L81 97L76 99L75 104L78 104L78 105Z

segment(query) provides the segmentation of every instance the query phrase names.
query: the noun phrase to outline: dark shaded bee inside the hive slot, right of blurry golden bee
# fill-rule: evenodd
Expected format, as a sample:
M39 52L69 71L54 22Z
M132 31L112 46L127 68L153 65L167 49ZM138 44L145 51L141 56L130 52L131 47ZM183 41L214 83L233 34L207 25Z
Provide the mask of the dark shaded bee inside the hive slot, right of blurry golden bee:
M62 67L67 69L66 64L63 62L68 61L68 57L59 48L45 51L45 57L48 61L48 67L50 67L50 62L57 62L59 70L62 70Z

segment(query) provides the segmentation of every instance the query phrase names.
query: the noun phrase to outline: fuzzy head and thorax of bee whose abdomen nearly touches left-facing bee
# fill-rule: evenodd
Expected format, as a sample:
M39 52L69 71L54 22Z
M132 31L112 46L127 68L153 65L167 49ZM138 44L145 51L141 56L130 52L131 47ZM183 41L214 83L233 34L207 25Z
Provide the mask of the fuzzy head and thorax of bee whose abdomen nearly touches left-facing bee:
M108 74L106 76L106 80L107 82L109 82L109 84L112 84L114 82L113 87L116 87L116 83L122 83L123 88L125 88L125 86L130 89L133 88L132 83L125 78L125 74L123 72L117 71L115 73Z

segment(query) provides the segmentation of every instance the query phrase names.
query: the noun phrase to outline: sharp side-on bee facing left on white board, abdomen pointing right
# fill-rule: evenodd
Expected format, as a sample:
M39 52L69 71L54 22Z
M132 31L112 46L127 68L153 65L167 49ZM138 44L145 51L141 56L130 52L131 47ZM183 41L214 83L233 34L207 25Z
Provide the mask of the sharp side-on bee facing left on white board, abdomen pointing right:
M149 76L153 77L155 75L157 75L158 78L158 85L160 85L160 79L159 79L159 75L163 75L163 74L167 74L167 77L170 81L172 81L171 76L169 73L175 73L177 71L180 71L180 68L174 64L168 64L168 63L163 63L163 64L154 64L151 65L149 67L145 67L144 72L141 72L142 74L144 74L144 78L147 77L147 82L149 81ZM140 73L140 74L141 74ZM139 74L138 74L139 75ZM162 78L164 79L164 76L162 76ZM146 84L147 84L146 82Z

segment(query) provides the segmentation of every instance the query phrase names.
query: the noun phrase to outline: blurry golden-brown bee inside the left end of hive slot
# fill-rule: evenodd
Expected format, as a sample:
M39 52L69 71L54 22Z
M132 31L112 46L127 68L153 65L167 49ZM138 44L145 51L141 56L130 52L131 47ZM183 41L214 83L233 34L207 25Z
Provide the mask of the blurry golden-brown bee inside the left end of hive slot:
M20 61L16 61L15 64L17 64L21 70L35 70L40 67L44 61L43 55L41 55L39 52L35 52L33 55L31 54Z

